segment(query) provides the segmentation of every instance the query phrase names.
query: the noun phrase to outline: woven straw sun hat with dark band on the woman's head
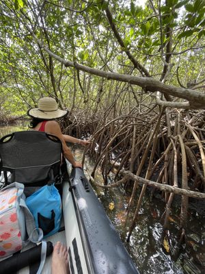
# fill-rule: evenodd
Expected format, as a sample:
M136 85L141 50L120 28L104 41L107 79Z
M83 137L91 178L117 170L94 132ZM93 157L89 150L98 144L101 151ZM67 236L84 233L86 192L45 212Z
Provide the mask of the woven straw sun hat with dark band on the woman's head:
M57 119L67 114L67 110L59 110L55 99L43 97L38 101L38 108L31 108L29 116L39 119Z

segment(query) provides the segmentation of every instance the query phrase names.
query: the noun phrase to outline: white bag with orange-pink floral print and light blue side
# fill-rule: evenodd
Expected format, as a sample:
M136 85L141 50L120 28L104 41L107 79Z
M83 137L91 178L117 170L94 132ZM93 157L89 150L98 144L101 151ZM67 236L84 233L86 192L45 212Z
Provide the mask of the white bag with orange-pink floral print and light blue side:
M19 251L31 238L32 242L42 238L25 204L23 190L24 185L15 182L0 191L0 258Z

